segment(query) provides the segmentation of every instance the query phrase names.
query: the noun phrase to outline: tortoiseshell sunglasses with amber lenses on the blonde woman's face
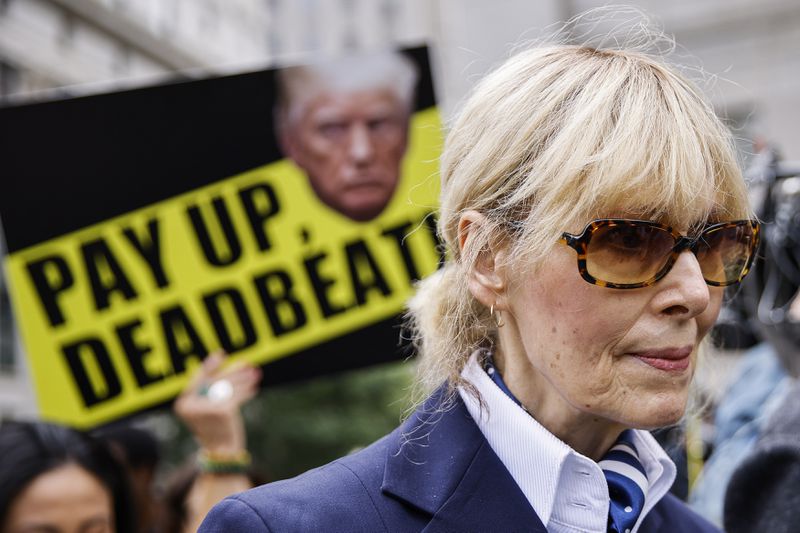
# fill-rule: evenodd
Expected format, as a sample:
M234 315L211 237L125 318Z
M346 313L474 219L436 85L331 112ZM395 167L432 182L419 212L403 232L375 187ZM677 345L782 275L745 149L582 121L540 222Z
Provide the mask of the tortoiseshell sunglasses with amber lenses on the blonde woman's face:
M759 229L755 220L736 220L709 224L697 236L687 237L658 222L604 218L590 222L580 235L564 233L559 242L578 252L578 271L593 285L648 287L689 250L706 283L725 287L742 281L750 271Z

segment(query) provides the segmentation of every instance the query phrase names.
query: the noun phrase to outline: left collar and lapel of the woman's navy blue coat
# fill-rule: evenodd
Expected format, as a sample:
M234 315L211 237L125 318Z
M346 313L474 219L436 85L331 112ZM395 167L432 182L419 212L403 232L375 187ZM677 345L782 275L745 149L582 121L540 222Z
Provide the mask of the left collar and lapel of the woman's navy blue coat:
M425 531L546 532L458 394L436 391L391 434L381 489L433 515Z

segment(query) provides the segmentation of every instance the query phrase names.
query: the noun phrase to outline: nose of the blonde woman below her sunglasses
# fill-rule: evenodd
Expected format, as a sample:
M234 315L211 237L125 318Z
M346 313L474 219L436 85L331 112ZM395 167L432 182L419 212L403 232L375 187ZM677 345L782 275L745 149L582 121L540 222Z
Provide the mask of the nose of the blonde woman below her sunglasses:
M705 311L711 300L700 263L689 250L678 255L672 269L659 284L662 293L658 305L662 313L691 318Z

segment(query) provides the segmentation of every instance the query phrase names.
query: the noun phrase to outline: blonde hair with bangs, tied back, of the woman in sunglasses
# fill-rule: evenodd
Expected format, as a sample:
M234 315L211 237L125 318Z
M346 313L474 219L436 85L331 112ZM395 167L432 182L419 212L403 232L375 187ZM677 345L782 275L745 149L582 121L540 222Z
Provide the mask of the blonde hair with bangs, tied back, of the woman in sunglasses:
M441 180L448 261L408 306L423 392L469 388L468 357L495 341L467 287L490 243L505 239L507 264L535 270L563 231L620 210L684 228L751 215L727 128L675 67L638 48L549 44L511 57L452 123ZM467 210L486 223L462 251Z

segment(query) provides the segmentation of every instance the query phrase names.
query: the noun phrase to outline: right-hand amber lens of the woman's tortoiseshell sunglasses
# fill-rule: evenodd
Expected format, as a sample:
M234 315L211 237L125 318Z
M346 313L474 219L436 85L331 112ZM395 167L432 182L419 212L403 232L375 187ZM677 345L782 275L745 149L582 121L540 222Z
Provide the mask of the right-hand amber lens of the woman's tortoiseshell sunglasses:
M712 228L695 245L703 277L717 285L741 280L755 249L755 232L749 223Z

